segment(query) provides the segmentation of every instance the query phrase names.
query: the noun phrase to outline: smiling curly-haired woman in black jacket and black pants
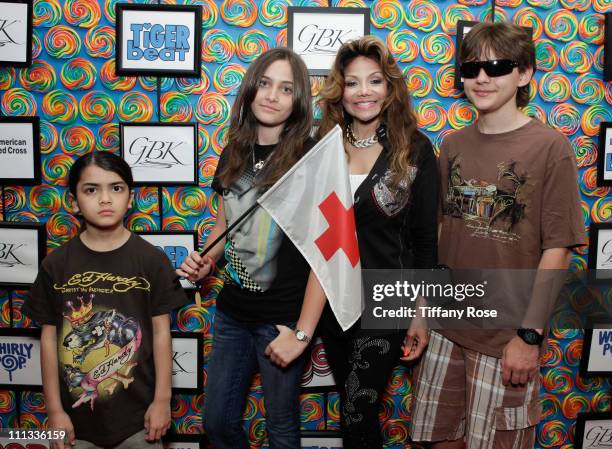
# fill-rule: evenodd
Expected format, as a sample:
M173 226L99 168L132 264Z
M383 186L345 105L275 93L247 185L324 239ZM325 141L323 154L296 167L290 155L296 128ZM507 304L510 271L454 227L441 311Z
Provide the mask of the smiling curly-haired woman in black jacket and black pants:
M344 131L362 269L433 268L436 158L416 129L404 77L387 46L373 36L345 43L321 98L320 136L336 124ZM321 328L340 392L343 447L382 448L378 413L391 371L402 349L405 360L419 357L426 332L416 320L407 333L363 330L359 322L343 332L329 306Z

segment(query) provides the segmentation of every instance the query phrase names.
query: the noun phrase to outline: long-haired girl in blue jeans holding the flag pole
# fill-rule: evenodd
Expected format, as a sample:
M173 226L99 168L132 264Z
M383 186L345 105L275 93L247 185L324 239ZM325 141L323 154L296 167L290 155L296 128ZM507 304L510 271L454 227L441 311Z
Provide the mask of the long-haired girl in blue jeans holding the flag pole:
M199 281L217 261L227 262L204 405L204 427L215 449L249 448L242 416L256 370L261 373L270 448L300 446L301 355L325 296L270 215L251 208L312 147L311 126L304 62L287 48L262 54L247 70L232 108L228 144L212 183L219 194L217 221L205 247L245 214L246 219L203 257L190 254L177 270Z

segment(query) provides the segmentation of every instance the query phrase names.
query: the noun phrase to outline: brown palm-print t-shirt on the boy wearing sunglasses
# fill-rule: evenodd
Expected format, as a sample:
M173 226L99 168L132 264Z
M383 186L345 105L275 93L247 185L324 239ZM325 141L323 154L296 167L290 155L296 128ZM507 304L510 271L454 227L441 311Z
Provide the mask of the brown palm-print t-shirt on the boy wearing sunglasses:
M575 156L565 136L532 119L501 134L473 124L440 149L440 263L453 269L536 269L542 252L585 244ZM442 333L501 357L513 330Z

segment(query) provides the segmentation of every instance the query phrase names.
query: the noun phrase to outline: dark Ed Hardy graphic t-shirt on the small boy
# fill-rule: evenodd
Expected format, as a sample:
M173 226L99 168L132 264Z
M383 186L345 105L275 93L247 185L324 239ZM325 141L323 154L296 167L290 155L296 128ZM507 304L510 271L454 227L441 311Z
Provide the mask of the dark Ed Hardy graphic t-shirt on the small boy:
M62 405L76 438L107 446L144 428L155 391L152 317L186 302L167 257L135 234L108 252L76 237L45 258L23 310L57 327Z

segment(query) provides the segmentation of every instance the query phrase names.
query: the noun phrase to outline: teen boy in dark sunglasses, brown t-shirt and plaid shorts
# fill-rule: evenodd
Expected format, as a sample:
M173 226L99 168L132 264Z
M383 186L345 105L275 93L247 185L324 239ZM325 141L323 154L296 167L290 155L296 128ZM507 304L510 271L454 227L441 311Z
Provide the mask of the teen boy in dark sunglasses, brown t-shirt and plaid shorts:
M440 150L440 262L451 269L567 269L570 248L585 242L577 169L568 140L519 109L529 102L535 70L529 33L480 23L466 35L461 60L464 91L479 118ZM538 301L535 290L530 295ZM533 448L544 335L527 322L430 332L415 374L414 441L434 442L434 449Z

